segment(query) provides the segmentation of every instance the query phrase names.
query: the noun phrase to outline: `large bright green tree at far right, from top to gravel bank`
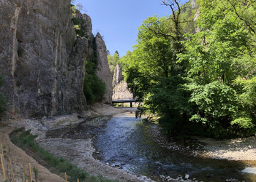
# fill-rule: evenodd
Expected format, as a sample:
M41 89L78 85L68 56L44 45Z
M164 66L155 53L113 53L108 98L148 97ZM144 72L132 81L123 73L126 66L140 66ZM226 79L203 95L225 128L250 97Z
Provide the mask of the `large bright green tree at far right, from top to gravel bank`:
M197 108L190 121L199 122L216 138L252 134L256 123L252 116L254 106L246 100L254 98L255 35L253 23L247 25L251 20L245 18L249 14L246 11L252 8L241 1L237 1L236 7L232 4L235 1L230 0L199 2L196 25L200 31L186 35L187 40L183 41L186 51L178 55L181 61L189 60L187 73L192 79L189 102ZM238 18L241 9L243 18Z

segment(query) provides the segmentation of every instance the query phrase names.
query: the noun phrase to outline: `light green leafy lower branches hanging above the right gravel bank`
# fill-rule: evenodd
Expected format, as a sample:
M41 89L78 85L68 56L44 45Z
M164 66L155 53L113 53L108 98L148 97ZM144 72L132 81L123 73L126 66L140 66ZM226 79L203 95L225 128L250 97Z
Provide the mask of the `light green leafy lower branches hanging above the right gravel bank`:
M238 107L236 91L221 82L206 85L190 84L192 91L189 103L194 105L191 122L200 123L214 138L220 138L230 127L233 114Z

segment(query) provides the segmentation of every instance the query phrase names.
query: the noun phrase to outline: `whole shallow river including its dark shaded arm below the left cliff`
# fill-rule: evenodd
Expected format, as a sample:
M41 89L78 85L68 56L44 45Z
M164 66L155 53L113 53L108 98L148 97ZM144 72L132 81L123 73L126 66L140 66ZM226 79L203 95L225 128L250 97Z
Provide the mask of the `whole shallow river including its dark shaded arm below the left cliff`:
M193 157L163 147L156 142L154 132L153 135L150 132L152 125L136 119L132 112L117 114L104 122L102 127L89 127L88 123L85 121L76 127L52 130L42 146L66 157L78 167L85 167L83 157L89 154L84 147L89 146L84 141L93 138L96 149L94 158L103 164L134 175L144 175L154 181L161 181L160 175L171 178L189 175L189 179L196 178L197 181L226 181L230 178L256 181L256 175L242 173L246 167L252 167L253 164L248 162Z

